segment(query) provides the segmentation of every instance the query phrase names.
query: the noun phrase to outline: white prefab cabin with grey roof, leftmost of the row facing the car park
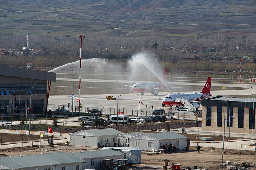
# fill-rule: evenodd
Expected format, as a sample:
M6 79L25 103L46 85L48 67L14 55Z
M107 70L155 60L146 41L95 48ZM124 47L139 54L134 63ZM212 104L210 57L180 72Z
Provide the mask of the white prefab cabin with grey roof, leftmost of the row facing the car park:
M116 146L117 135L121 133L121 131L113 128L81 130L70 134L70 145L88 147Z

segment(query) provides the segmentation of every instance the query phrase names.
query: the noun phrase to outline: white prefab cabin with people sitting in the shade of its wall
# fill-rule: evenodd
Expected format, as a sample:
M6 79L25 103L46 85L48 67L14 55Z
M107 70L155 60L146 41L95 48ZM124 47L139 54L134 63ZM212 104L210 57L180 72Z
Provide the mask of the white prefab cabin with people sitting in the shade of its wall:
M129 147L158 151L162 145L174 144L178 150L189 148L188 138L175 132L140 134L129 138Z

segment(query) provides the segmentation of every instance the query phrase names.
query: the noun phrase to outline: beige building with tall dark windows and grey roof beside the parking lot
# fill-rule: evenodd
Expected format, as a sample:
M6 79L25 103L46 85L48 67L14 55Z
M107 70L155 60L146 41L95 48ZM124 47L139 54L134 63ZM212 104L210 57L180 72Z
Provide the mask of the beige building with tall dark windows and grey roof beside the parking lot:
M202 130L230 133L252 133L255 129L253 98L212 97L201 100ZM204 118L204 119L203 119ZM253 121L254 120L254 121Z

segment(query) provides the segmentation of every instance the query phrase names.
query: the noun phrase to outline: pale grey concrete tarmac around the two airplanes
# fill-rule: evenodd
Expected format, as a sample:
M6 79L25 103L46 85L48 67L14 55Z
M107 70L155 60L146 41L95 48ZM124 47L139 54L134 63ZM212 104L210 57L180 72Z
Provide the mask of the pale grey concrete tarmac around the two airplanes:
M58 79L58 81L71 81L73 79ZM82 82L86 81L98 81L95 79L82 79ZM103 81L103 80L102 80ZM115 82L118 80L104 80L107 82ZM126 82L127 83L127 82ZM131 83L131 82L129 82ZM198 86L198 87L203 87L204 86L204 82L203 83L195 83L195 82L173 82L170 81L168 83L171 83L173 85L186 85L186 86ZM255 84L245 84L245 83L214 83L212 82L211 87L215 87L215 89L220 89L220 87L226 87L227 89L230 88L242 88L242 89L235 89L235 90L214 90L211 91L212 96L236 96L236 95L251 95L252 93L252 88L256 89L256 85ZM65 87L63 87L65 88ZM93 88L93 87L91 87ZM95 87L95 88L104 88L104 87ZM197 88L198 89L198 88ZM182 91L182 90L181 90ZM184 92L175 92L173 91L172 93L192 93L192 92L200 92L200 91L184 91ZM167 92L159 92L158 98L152 97L152 94L150 92L145 93L145 95L137 95L137 94L131 94L131 93L122 93L122 94L108 94L107 92L105 94L82 94L81 95L81 103L83 107L94 107L94 108L116 108L117 109L117 100L113 101L113 100L106 100L106 96L107 95L113 95L114 97L117 98L117 96L122 95L118 98L118 108L120 108L120 110L122 110L123 108L125 109L129 109L129 110L138 110L138 108L140 107L140 110L143 109L143 111L151 111L151 106L154 106L154 109L156 108L163 108L161 106L161 101L162 99L159 98L163 98L165 95L167 94ZM78 103L76 103L76 99L78 99L79 95L77 94L77 92L75 92L75 96L74 96L74 106L78 106ZM138 100L140 98L140 102L144 103L140 104L138 103ZM50 95L49 96L49 101L48 101L48 109L49 109L49 104L56 104L56 105L60 105L63 106L63 104L65 106L67 106L67 104L70 103L72 105L72 100L71 100L71 94L70 95ZM148 103L148 108L146 108L146 103ZM174 108L174 106L173 106ZM169 110L169 108L165 108L165 110Z

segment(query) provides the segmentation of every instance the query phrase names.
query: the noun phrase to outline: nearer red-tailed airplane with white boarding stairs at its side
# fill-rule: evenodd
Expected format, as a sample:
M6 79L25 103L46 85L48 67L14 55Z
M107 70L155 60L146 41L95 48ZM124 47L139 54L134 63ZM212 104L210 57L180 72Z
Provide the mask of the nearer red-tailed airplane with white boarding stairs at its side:
M173 105L180 106L185 105L186 107L191 106L191 108L199 108L200 104L196 102L200 102L201 99L208 98L212 96L210 94L211 90L211 77L208 77L206 83L204 84L204 88L200 93L187 93L187 94L167 94L162 100L163 107L172 108ZM192 110L192 109L190 109ZM192 110L195 111L195 110Z

